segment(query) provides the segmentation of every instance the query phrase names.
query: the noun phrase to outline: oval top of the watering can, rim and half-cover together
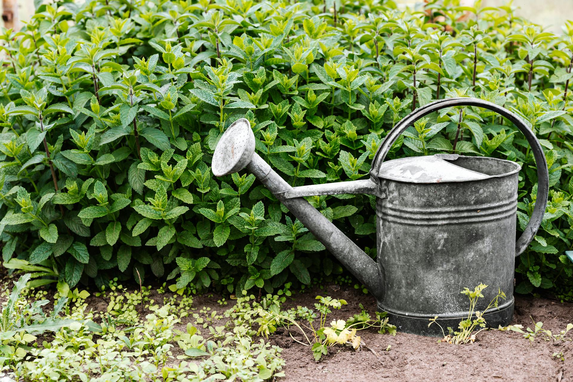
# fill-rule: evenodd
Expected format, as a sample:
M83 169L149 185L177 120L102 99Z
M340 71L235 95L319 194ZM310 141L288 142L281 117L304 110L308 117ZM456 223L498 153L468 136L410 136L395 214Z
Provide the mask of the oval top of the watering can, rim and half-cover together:
M450 161L457 160L459 158L470 159L470 160L489 160L492 162L501 162L509 167L513 167L513 170L506 171L501 174L484 174L482 172L470 170L458 164L452 163ZM436 170L442 170L443 174L434 174L433 177L423 178L421 176L414 177L409 172L405 172L402 176L397 176L397 172L401 171L403 168L407 170L408 166L425 166L427 171L437 172ZM440 168L437 168L440 167ZM506 176L516 174L521 170L519 163L513 162L512 160L494 158L489 156L465 156L458 154L444 154L437 153L434 155L422 155L422 156L409 156L403 158L397 158L393 160L388 160L383 162L379 167L378 174L376 178L387 179L394 182L400 183L417 183L417 184L432 184L432 183L462 183L462 182L476 182L481 180L487 180L492 178L505 178ZM429 175L429 174L423 174Z

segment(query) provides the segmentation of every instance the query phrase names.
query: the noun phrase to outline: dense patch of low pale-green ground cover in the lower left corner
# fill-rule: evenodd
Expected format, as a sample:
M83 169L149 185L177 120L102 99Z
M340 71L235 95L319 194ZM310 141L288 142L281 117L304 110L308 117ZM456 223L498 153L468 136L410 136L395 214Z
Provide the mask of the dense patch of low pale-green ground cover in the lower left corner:
M185 330L175 329L193 311L190 295L164 291L163 301L148 300L143 307L138 302L146 300L150 288L130 293L116 280L109 284L115 292L104 290L107 312L88 312L89 293L83 290L79 293L83 298L60 297L46 316L41 306L49 301L37 298L44 296L41 291L30 296L29 278L25 274L14 282L2 313L3 320L10 321L2 321L0 328L1 371L17 381L263 381L284 376L282 349L253 338L254 318L222 322L199 310L192 313L198 318L195 324L209 322L203 326L203 336L203 329L191 322ZM119 307L117 297L127 302ZM274 300L280 304L278 296ZM241 305L253 315L257 306ZM228 317L236 309L231 306L225 314ZM180 350L177 357L174 349Z

